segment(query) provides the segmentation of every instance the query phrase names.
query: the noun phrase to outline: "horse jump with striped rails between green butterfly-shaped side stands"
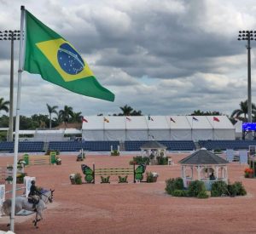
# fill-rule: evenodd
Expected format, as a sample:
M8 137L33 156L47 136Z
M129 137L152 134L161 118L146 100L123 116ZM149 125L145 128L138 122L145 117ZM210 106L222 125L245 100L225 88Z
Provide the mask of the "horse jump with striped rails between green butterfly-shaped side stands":
M133 183L136 183L138 180L143 180L143 174L146 170L145 164L140 164L135 168L133 165L132 168L96 168L93 163L93 168L91 169L89 166L82 164L81 165L84 180L86 183L96 183L96 176L101 176L101 183L110 183L110 176L117 175L119 178L119 183L128 183L127 178L129 174L133 174ZM106 177L107 176L107 177Z

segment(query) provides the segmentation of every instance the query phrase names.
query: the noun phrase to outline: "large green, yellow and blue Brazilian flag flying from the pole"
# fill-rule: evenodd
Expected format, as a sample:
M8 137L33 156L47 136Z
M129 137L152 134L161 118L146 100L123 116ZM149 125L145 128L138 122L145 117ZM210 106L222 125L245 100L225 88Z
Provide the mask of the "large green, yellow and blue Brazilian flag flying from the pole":
M24 70L78 94L114 100L114 94L97 82L80 54L63 37L26 10Z

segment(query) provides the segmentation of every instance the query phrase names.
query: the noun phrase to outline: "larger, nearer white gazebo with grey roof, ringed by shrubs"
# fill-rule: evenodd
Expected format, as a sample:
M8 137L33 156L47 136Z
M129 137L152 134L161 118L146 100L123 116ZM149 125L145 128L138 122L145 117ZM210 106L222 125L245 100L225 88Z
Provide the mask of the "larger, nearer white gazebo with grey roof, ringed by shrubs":
M218 157L212 151L202 148L179 161L182 165L184 187L194 180L201 180L207 190L211 190L212 183L223 180L228 182L228 161Z

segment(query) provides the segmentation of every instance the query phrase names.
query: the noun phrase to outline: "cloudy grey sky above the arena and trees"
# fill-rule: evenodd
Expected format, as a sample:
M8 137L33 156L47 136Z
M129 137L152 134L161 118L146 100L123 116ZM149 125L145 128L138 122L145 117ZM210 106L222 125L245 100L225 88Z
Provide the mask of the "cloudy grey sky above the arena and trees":
M46 103L84 115L119 113L126 104L145 115L230 115L247 99L247 49L237 36L256 30L253 0L0 0L0 30L20 28L20 5L72 43L115 94L114 102L85 97L24 71L22 115L47 114ZM0 97L9 100L10 42L0 41L0 51ZM255 53L256 42L254 103Z

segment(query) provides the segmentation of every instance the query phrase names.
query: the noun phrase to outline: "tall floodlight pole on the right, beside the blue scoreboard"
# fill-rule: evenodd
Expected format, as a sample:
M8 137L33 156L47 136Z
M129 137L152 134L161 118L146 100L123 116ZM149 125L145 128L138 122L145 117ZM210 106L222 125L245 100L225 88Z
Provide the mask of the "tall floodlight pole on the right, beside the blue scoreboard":
M253 35L254 33L254 35ZM252 123L252 87L251 87L251 41L256 41L256 31L239 31L238 40L247 41L247 115L248 115L248 123ZM248 131L249 140L253 140L253 134L251 131Z

